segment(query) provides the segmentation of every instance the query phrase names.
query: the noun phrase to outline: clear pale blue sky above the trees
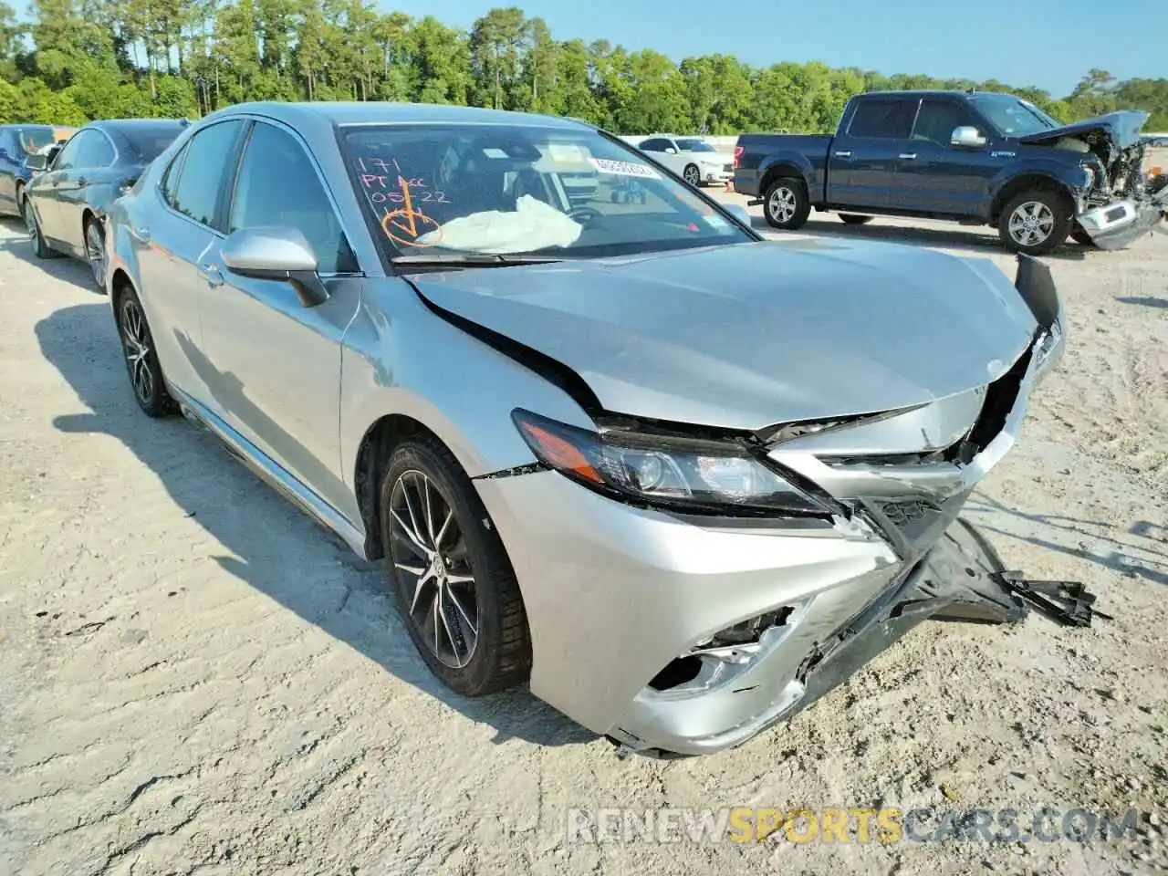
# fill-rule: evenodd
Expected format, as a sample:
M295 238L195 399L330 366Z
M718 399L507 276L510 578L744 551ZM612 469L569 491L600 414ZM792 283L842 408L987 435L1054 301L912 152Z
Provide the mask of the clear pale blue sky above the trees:
M674 61L736 55L756 67L822 61L882 74L1037 85L1065 97L1093 67L1168 77L1163 0L380 0L470 28L494 6L542 18L556 40L609 40ZM1159 8L1156 8L1159 7Z

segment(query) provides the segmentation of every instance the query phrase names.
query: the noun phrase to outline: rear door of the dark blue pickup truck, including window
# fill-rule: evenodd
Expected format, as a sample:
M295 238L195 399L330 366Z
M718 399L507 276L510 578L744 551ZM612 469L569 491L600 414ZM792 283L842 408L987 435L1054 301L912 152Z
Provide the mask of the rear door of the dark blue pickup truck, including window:
M832 141L827 201L839 207L888 208L901 186L901 157L911 147L912 121L920 99L864 97L855 102L847 128Z

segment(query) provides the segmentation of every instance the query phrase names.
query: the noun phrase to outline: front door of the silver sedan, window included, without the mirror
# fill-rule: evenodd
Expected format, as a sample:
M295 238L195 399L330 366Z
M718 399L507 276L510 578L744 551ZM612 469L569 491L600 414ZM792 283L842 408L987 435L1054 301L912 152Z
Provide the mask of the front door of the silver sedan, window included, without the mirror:
M211 283L202 307L211 396L220 416L285 471L334 508L346 507L341 339L362 280L354 276L356 263L317 162L291 128L256 121L228 215L229 232L299 229L319 259L329 298L308 307L286 281L231 273L216 241L203 257Z

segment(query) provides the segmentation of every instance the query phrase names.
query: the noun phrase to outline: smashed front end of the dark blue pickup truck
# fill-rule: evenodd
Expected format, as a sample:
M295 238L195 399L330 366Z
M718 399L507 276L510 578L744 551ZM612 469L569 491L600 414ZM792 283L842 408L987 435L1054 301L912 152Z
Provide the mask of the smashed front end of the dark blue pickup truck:
M1083 154L1076 227L1103 250L1122 249L1163 221L1168 188L1143 167L1148 113L1119 111L1023 137L1022 142Z

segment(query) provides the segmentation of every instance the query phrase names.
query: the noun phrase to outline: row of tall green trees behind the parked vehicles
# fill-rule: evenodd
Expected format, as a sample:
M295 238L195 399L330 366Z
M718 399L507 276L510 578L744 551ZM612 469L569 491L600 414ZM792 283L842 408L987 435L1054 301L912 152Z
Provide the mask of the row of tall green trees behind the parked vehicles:
M368 0L0 2L0 120L79 125L196 118L241 100L419 100L575 116L621 133L829 131L857 91L1010 91L1070 121L1117 107L1168 130L1168 79L1091 70L1065 97L939 79L702 55L675 63L606 40L558 41L538 18L496 8L470 32Z

